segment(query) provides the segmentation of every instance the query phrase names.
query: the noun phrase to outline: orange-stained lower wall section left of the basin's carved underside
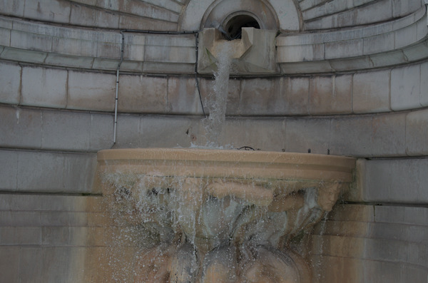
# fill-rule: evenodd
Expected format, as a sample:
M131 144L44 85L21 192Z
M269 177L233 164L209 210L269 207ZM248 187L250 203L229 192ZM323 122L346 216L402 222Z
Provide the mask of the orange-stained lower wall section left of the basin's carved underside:
M91 274L84 272L86 249L105 249L100 201L100 197L2 195L0 250L7 256L0 259L2 279L90 281Z

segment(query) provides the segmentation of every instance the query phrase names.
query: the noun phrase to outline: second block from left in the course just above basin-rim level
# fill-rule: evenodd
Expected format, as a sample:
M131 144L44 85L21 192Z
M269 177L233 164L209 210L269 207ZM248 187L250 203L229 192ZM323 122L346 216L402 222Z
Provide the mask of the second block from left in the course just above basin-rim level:
M89 149L90 114L44 111L43 121L42 148L83 151Z

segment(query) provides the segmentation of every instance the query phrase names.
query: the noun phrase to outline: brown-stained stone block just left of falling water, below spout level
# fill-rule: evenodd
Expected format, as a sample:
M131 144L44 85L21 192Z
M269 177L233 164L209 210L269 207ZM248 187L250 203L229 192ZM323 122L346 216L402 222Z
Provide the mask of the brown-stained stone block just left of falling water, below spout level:
M197 79L201 81L200 78ZM202 84L202 82L199 84ZM202 93L200 95L202 96ZM195 78L182 76L168 78L167 101L168 106L166 106L166 109L168 113L190 115L203 114Z

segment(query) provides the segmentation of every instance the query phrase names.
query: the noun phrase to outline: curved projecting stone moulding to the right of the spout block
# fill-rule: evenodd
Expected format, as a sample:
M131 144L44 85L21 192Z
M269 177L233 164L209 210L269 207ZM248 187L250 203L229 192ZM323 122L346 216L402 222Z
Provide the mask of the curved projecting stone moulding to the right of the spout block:
M281 73L381 68L428 56L426 7L384 24L345 31L277 37Z

